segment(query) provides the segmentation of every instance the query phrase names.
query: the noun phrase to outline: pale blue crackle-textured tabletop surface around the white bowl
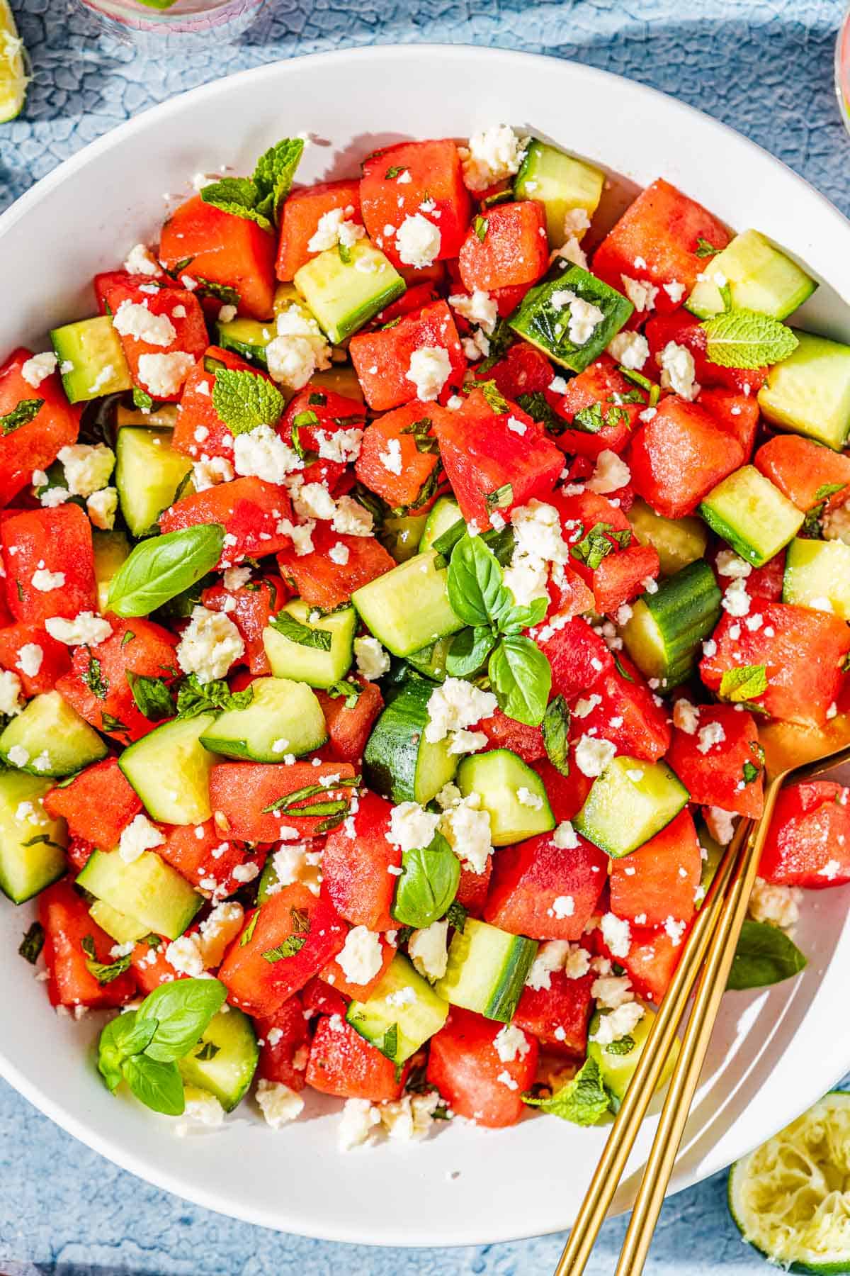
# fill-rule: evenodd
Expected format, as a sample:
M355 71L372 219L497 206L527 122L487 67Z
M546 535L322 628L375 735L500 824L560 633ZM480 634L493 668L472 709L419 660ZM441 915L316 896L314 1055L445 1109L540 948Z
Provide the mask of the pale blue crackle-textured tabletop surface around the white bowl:
M184 88L345 43L451 41L557 54L631 75L701 107L780 156L850 212L849 143L832 92L842 0L266 0L234 46L158 61L98 36L61 0L13 0L33 59L24 116L0 130L0 208L84 143ZM695 6L696 8L696 6ZM663 142L659 167L663 168ZM717 175L723 180L723 174ZM624 1222L587 1267L608 1276ZM373 1276L551 1271L556 1236L393 1253L282 1236L185 1205L116 1169L0 1082L4 1276L264 1276L343 1268ZM687 1257L686 1257L687 1256ZM666 1203L652 1276L766 1272L725 1207L725 1175Z

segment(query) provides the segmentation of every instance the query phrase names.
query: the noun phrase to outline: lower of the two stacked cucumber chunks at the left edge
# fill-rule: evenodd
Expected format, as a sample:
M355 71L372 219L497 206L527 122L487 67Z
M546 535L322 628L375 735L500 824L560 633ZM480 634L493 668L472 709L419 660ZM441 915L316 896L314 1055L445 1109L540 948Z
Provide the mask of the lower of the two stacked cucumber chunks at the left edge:
M0 772L0 891L13 903L31 900L68 868L65 820L41 806L51 787L23 771Z

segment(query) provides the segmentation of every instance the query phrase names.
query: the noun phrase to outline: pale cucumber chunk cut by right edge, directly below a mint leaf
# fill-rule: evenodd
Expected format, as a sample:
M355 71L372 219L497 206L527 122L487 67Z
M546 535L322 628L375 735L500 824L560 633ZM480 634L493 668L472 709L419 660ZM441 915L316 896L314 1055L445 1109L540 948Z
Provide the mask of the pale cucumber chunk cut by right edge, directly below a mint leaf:
M840 452L850 434L850 346L794 330L799 346L775 364L758 392L771 425Z

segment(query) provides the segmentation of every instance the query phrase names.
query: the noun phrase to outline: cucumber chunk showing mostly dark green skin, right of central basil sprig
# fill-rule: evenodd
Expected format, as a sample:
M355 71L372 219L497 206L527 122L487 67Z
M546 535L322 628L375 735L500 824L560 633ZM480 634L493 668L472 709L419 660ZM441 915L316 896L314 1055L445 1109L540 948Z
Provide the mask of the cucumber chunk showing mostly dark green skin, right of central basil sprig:
M641 674L672 690L696 669L700 644L720 619L721 593L705 561L689 563L663 581L655 593L632 604L621 629L623 644Z

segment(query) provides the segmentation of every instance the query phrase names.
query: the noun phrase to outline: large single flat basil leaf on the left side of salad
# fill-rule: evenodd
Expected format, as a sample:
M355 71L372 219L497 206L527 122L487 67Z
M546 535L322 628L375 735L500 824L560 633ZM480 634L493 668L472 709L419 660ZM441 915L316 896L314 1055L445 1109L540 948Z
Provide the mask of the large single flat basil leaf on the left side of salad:
M198 523L140 541L112 578L104 610L116 616L149 615L212 570L223 545L220 523Z

